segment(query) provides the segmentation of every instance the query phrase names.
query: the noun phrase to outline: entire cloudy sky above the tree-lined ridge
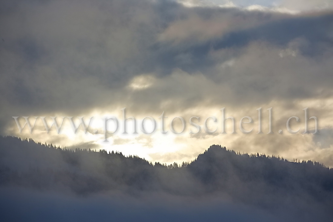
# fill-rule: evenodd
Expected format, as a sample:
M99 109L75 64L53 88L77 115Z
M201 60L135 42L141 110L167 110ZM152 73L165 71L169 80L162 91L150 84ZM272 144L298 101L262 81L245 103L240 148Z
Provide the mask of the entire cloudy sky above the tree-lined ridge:
M333 1L69 0L3 1L0 12L0 134L68 148L117 150L155 162L191 161L212 144L333 166ZM158 122L156 132L102 133L106 116ZM236 120L236 134L222 112ZM262 134L258 111L262 107ZM268 110L272 107L272 131ZM310 133L303 134L304 108ZM161 133L159 116L186 121ZM19 132L13 116L94 117L87 133ZM209 116L208 128L198 134ZM244 116L253 118L238 127ZM291 127L301 130L290 134ZM51 118L48 119L50 121ZM22 125L24 119L20 119ZM244 122L246 119L244 120ZM112 121L110 121L112 122ZM146 121L147 129L149 120ZM179 119L175 129L181 130ZM137 123L140 128L140 122ZM111 123L109 125L112 125ZM110 131L111 130L110 126ZM283 133L278 133L279 130ZM138 130L139 131L139 130Z

